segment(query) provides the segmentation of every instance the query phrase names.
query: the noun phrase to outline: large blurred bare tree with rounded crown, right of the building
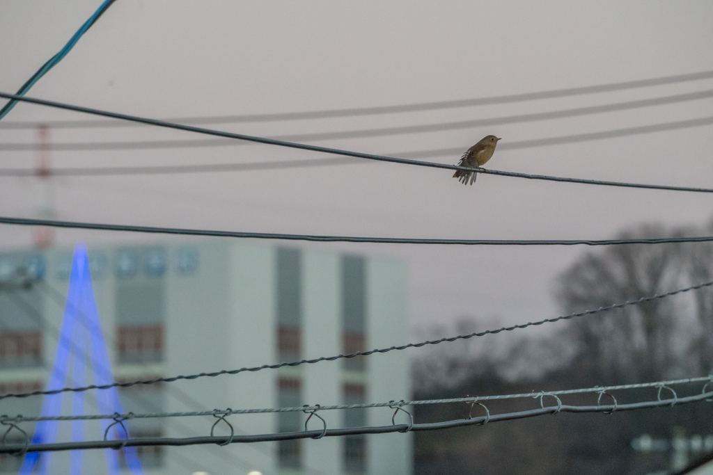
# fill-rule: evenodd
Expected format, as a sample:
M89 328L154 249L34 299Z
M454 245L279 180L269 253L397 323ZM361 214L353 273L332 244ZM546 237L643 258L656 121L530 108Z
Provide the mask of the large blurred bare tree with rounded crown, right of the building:
M620 237L679 234L649 225ZM567 313L608 306L673 290L689 280L689 269L690 259L677 244L610 246L585 254L565 271L557 296ZM573 320L568 335L578 348L575 367L607 380L628 382L680 372L686 353L677 338L682 330L680 307L676 299L668 298Z

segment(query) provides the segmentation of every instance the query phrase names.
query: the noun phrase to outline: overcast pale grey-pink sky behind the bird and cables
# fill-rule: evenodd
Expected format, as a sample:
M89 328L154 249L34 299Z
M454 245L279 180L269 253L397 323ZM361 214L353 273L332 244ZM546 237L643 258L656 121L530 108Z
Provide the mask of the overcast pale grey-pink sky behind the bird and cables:
M12 93L68 41L100 0L4 0L0 90ZM151 118L421 103L713 70L713 3L702 1L117 0L31 97ZM359 118L217 125L253 135L492 118L713 89L713 80L508 105ZM711 115L713 100L449 132L322 140L377 154L461 147ZM20 104L4 119L86 119ZM488 167L711 187L712 126L605 141L497 150ZM155 127L52 130L53 142L205 138ZM32 142L2 130L2 142ZM267 145L53 152L55 167L255 162L319 157ZM434 161L455 164L458 155ZM0 152L31 167L33 152ZM462 239L606 239L647 221L703 224L707 194L533 182L364 162L337 167L53 179L56 217L76 221L304 234ZM36 216L34 178L0 178L0 215ZM0 246L29 229L0 226ZM61 230L61 244L160 236ZM307 246L307 245L306 245ZM309 244L404 259L413 328L463 315L503 323L555 316L553 285L586 249ZM399 343L399 342L394 342Z

